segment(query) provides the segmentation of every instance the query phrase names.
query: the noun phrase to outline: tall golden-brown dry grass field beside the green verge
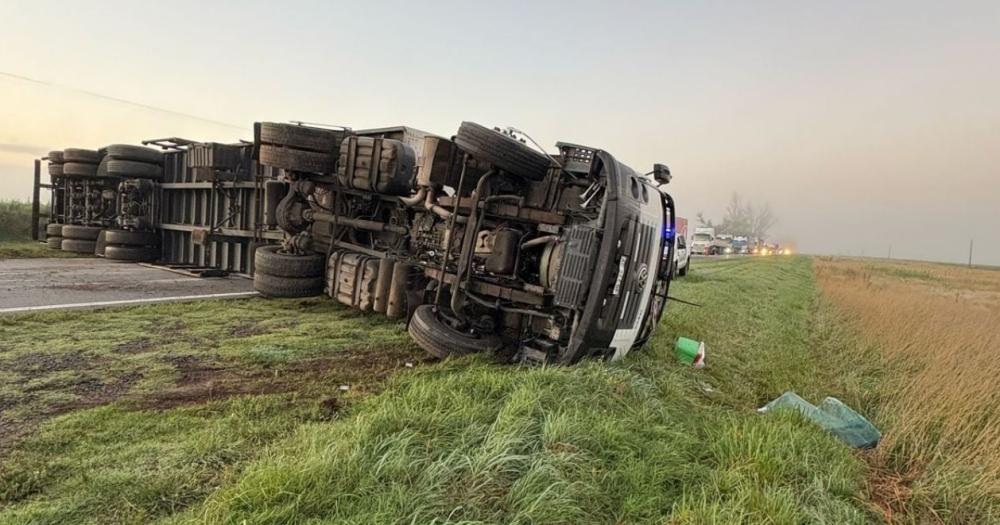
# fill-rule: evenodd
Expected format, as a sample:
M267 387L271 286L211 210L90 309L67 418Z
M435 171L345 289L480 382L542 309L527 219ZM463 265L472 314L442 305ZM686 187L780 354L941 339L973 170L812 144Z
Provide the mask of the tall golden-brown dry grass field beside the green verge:
M886 363L871 460L887 519L1000 521L1000 273L839 259L817 270Z

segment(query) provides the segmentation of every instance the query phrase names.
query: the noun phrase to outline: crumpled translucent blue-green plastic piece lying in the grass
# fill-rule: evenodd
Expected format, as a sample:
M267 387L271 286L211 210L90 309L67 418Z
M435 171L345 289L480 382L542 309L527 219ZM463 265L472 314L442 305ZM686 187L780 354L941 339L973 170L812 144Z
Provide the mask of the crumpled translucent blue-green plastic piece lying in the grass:
M757 412L766 414L780 409L798 410L806 419L829 430L854 448L875 448L882 439L882 433L875 425L835 397L824 399L817 407L789 390L758 408Z

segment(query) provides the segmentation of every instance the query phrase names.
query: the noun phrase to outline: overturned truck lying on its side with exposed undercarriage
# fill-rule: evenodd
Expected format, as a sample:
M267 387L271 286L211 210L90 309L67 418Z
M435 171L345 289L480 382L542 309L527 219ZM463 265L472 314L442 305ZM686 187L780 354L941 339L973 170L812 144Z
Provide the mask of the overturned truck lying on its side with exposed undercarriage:
M183 153L186 179L147 188L148 222L119 213L115 228L160 232L166 261L232 245L232 269L252 274L262 295L325 293L405 317L437 357L621 357L648 340L666 305L669 170L642 174L577 144L546 154L522 137L471 122L450 139L263 122L252 144L154 143L168 148L167 172L170 152ZM123 180L120 191L128 184L139 185ZM191 219L185 199L197 188L223 205L205 224L178 224L178 209Z

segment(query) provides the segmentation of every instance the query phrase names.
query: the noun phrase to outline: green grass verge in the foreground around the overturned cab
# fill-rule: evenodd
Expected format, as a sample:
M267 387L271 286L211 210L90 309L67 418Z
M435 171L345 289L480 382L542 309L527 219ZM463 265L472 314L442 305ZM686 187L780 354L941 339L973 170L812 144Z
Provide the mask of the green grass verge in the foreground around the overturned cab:
M671 292L704 307L671 304L643 352L531 369L391 374L418 355L402 326L319 299L3 320L0 407L35 430L0 456L0 522L868 521L854 452L754 412L787 389L871 403L810 261L702 263ZM678 335L706 341L705 369ZM34 354L63 361L7 372ZM219 395L184 396L192 361ZM76 409L79 377L127 387Z

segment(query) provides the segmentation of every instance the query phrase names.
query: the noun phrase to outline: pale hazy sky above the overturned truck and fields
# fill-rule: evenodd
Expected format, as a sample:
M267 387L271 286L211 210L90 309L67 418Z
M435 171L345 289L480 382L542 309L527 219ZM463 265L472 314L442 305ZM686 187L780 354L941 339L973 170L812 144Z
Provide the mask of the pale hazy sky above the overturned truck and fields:
M0 199L51 149L472 120L665 163L692 219L766 202L800 251L1000 265L1000 2L88 5L0 3Z

